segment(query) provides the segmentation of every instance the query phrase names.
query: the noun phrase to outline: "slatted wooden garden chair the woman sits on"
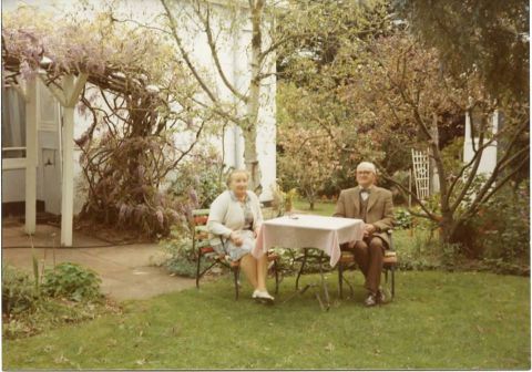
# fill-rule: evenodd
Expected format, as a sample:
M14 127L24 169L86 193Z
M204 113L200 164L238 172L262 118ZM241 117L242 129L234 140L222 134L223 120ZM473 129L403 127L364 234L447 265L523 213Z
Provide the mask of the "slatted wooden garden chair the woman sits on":
M235 282L235 299L238 300L239 289L239 276L241 276L241 261L231 261L224 255L219 255L214 250L208 239L207 219L209 209L195 209L192 211L192 244L193 250L197 254L197 268L196 268L196 288L200 288L200 279L211 270L215 265L223 265L231 269ZM219 237L222 245L224 240ZM273 262L273 269L275 275L275 293L279 290L279 275L277 270L278 255L268 252L268 262ZM202 259L211 259L212 262L205 269L201 270Z

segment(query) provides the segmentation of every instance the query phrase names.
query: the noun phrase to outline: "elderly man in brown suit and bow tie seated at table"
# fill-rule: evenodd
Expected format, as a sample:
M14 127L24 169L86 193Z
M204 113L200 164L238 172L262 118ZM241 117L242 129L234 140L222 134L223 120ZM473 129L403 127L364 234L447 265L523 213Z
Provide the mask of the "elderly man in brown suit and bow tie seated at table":
M385 300L380 290L383 251L389 245L387 230L393 226L391 193L375 186L377 169L372 163L362 162L357 166L358 186L342 190L336 205L335 217L364 220L364 240L350 241L342 249L355 255L366 282L368 307Z

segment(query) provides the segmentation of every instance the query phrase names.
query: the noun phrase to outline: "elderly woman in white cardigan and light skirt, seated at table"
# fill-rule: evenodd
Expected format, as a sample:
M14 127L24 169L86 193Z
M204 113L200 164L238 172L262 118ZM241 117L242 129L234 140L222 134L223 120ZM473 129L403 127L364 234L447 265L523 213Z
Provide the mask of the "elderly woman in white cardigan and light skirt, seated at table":
M217 252L228 256L232 261L241 260L241 269L255 289L252 298L270 302L274 298L266 289L266 255L259 259L250 255L263 223L263 213L258 197L247 189L247 182L246 170L229 174L229 189L218 195L211 205L207 228L216 236L212 242Z

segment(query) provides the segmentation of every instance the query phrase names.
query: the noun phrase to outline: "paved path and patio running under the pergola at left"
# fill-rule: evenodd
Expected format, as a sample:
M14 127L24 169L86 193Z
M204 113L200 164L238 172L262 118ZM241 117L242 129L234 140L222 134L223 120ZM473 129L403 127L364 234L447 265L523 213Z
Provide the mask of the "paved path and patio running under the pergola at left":
M156 244L113 246L94 237L74 231L75 248L55 248L61 232L49 225L37 225L33 236L39 262L47 266L55 262L78 262L96 271L102 278L102 291L115 300L145 299L156 294L178 291L195 286L194 279L172 277L164 268L152 262L161 259ZM13 248L10 248L13 247ZM10 264L31 271L32 256L30 237L23 225L8 223L2 226L2 264Z

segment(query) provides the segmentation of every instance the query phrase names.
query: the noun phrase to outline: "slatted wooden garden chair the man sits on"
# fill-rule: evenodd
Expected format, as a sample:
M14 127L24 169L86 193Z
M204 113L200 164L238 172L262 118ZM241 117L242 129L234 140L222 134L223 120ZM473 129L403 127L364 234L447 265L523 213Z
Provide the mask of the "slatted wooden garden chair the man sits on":
M383 257L383 262L382 262L382 271L385 272L385 283L388 285L388 271L390 272L391 277L391 282L390 282L390 292L391 292L391 298L396 296L396 269L397 269L397 251L393 246L393 239L392 239L392 230L388 230L388 237L390 239L390 246L389 249L385 251L385 257ZM350 251L342 250L341 251L341 257L338 261L338 289L340 292L340 298L344 298L344 281L349 286L349 289L351 291L351 296L354 293L352 286L347 281L347 279L344 276L344 271L346 269L350 269L356 267L356 261L355 261L355 256Z

